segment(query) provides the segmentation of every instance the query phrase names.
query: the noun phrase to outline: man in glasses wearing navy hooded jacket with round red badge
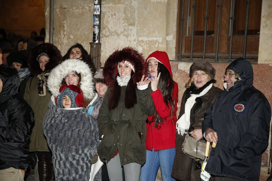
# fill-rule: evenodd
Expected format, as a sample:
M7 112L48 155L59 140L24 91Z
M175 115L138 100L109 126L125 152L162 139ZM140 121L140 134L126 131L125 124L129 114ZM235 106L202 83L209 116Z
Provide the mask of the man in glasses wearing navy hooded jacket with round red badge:
M268 145L271 108L253 87L251 63L236 59L226 68L225 90L206 111L202 133L212 148L205 170L215 180L259 180Z

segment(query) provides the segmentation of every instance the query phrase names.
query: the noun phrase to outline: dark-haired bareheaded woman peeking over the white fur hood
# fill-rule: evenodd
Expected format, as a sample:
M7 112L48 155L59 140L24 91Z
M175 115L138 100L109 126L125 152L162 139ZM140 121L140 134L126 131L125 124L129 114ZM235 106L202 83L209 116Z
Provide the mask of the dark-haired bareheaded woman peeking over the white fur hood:
M86 62L90 68L95 71L94 63L92 62L92 59L88 55L88 52L83 48L83 46L80 43L76 43L73 46L71 46L67 53L60 59L60 63L63 62L66 59L80 59L83 62Z

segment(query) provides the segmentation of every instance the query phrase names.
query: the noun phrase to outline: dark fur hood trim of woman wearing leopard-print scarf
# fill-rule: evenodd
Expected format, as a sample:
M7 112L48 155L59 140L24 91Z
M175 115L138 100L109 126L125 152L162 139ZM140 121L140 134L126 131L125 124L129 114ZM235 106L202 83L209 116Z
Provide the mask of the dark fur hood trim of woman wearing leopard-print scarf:
M32 49L28 56L28 68L33 75L38 75L42 72L37 61L37 56L42 52L45 52L50 58L50 61L45 65L44 71L51 71L59 64L61 58L60 50L51 43L40 44Z

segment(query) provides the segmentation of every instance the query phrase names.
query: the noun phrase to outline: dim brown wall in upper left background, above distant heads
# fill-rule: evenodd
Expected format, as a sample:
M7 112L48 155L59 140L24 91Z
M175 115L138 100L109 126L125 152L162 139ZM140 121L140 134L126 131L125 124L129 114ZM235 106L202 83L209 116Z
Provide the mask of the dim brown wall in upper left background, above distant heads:
M38 36L44 28L43 0L0 1L0 28L23 37L30 37L32 31Z

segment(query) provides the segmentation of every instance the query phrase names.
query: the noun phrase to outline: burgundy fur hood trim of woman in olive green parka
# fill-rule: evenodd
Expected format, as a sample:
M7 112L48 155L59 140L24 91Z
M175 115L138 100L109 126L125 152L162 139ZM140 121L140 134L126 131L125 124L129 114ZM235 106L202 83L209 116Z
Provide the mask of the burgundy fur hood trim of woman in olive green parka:
M108 87L112 88L116 81L116 75L118 74L118 63L122 61L128 61L134 66L134 75L132 75L134 87L136 82L139 82L143 75L147 76L147 64L141 53L138 53L132 47L125 47L122 50L116 50L113 52L105 62L103 68L104 79Z

